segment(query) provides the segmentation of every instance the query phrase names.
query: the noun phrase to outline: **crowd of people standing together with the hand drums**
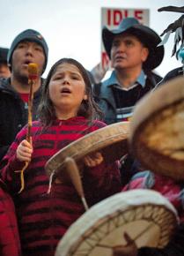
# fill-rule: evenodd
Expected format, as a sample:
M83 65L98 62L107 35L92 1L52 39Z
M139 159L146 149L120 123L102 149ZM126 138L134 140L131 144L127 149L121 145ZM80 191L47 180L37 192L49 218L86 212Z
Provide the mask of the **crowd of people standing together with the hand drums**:
M59 59L43 79L48 43L33 29L18 34L10 49L0 49L2 256L54 256L59 240L85 213L85 208L70 181L53 182L48 193L46 162L90 132L127 121L145 94L154 93L168 79L183 75L182 68L169 72L164 79L154 72L164 58L164 46L158 46L161 38L154 30L135 18L122 19L113 30L104 27L102 40L113 67L106 80L102 80L106 70L100 74L97 68L88 72L72 58ZM177 55L182 56L183 49L181 46ZM31 63L38 65L38 79L33 87L32 139L27 141ZM19 192L20 170L25 162L26 185ZM184 255L183 181L178 183L145 171L130 154L121 162L106 163L97 152L85 157L84 166L82 181L90 206L117 192L144 188L162 193L180 216L180 225L165 248L137 249L136 243L124 234L127 246L114 247L112 255Z

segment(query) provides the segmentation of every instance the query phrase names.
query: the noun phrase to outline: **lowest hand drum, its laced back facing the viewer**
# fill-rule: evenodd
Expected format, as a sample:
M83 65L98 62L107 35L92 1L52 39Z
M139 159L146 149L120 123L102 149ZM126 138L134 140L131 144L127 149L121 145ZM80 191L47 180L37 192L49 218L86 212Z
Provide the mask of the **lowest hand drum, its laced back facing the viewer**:
M74 222L59 242L55 256L112 255L126 245L123 232L138 248L167 245L178 222L172 204L158 192L120 192L99 202Z

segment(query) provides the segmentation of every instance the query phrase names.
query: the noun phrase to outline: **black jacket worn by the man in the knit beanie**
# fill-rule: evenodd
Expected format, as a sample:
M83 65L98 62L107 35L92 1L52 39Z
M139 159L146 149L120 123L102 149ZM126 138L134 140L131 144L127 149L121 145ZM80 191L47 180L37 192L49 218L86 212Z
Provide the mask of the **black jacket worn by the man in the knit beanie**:
M43 79L41 79L41 84ZM33 120L40 102L40 89L33 96ZM17 133L27 123L27 106L11 87L11 79L0 79L0 160Z

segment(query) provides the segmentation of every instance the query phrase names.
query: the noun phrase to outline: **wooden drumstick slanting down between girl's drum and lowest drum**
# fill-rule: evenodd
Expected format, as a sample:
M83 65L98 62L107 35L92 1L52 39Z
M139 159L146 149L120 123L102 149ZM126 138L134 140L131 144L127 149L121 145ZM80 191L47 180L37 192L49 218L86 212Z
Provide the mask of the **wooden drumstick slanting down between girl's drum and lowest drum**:
M85 207L85 211L87 211L89 209L86 200L85 200L85 192L83 189L83 184L81 182L81 177L79 174L79 170L77 168L77 164L74 161L73 158L71 157L67 157L65 159L65 163L66 163L66 170L67 170L67 174L71 179L72 184L75 186L78 195L80 196L83 205Z

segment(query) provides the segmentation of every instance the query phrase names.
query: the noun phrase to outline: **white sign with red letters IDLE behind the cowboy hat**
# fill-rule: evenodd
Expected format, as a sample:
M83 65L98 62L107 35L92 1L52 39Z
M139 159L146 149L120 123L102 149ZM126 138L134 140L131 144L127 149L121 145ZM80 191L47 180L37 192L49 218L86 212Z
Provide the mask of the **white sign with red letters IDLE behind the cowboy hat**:
M120 8L101 8L101 31L103 26L112 30L116 28L121 19L134 17L145 26L149 26L150 11L149 9L120 9ZM103 67L109 65L109 59L103 45L101 36L101 64Z

